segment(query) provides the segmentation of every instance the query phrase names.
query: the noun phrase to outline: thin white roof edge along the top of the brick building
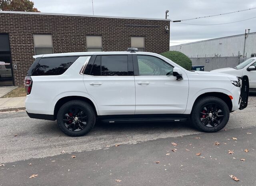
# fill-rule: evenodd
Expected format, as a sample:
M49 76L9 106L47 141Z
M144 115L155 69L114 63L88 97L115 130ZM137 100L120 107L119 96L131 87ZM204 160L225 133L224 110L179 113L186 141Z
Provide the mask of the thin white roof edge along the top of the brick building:
M20 12L20 11L0 11L0 14L32 14L32 15L50 15L50 16L74 16L74 17L92 17L92 18L113 18L113 19L133 19L133 20L157 20L170 21L170 19L159 18L136 18L136 17L117 17L117 16L94 16L83 14L62 14L62 13L47 13L47 12Z

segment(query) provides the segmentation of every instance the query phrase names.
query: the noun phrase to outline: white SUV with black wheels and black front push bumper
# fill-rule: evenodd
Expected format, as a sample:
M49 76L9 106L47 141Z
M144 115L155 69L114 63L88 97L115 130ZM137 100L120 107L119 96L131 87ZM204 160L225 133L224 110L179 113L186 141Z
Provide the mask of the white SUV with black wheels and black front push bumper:
M85 135L96 120L191 119L201 131L216 132L230 112L247 106L246 77L240 91L236 76L188 71L162 55L130 50L34 56L25 78L29 117L57 119L69 136Z

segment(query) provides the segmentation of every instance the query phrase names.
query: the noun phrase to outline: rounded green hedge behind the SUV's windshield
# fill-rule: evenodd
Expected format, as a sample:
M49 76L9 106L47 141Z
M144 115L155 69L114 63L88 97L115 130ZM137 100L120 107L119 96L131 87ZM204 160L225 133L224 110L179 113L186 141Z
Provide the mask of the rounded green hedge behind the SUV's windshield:
M164 57L171 59L173 62L177 63L178 65L182 66L187 70L191 70L192 68L192 61L184 54L179 51L166 51L161 53Z

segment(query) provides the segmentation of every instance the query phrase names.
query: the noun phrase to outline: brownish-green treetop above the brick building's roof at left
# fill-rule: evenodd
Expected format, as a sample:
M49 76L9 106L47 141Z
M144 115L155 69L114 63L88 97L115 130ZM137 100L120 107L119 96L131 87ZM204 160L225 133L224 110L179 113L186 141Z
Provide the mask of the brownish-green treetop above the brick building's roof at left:
M40 12L37 8L34 8L34 2L30 0L0 0L0 10Z

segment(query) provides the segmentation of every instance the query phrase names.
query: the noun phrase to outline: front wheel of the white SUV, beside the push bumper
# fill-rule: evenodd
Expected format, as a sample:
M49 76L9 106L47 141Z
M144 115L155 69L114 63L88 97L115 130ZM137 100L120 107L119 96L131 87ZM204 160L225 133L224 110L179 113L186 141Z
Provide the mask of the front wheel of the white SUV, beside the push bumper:
M198 130L213 133L226 126L229 114L228 105L222 99L206 96L196 101L190 117L192 124Z

